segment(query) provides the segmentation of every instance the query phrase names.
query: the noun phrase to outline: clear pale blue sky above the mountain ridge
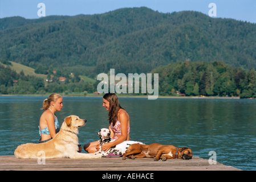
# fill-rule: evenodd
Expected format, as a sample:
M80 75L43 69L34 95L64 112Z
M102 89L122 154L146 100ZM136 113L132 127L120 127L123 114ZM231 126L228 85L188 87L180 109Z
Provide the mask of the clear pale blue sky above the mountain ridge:
M124 7L145 6L160 13L199 11L209 15L210 3L216 4L216 18L232 18L256 23L256 0L0 0L0 18L22 16L40 18L39 3L44 3L45 14L78 15L102 14Z

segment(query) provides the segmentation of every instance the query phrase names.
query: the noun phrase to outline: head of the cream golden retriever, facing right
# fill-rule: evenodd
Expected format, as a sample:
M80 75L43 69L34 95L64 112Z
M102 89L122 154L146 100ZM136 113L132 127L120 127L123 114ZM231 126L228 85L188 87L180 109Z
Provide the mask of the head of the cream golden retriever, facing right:
M62 129L78 134L78 128L86 125L86 119L80 119L76 115L70 115L64 119Z

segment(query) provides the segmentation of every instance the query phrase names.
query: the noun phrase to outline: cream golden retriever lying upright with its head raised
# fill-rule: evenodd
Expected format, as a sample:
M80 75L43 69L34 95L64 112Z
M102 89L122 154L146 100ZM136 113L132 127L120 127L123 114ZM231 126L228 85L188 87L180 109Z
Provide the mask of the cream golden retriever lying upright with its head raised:
M59 133L46 143L21 144L14 151L17 158L38 159L42 156L42 151L46 159L52 158L72 158L87 159L101 158L101 155L79 153L78 128L86 125L86 120L80 119L76 115L70 115L64 119ZM39 153L38 153L39 152Z

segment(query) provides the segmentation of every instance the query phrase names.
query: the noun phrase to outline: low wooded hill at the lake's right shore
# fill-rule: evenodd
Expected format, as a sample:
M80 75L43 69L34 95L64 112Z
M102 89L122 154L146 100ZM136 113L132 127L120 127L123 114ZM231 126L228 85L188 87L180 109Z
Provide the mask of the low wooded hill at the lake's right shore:
M222 62L170 63L153 70L159 73L159 94L175 96L239 96L256 98L256 72L234 68Z

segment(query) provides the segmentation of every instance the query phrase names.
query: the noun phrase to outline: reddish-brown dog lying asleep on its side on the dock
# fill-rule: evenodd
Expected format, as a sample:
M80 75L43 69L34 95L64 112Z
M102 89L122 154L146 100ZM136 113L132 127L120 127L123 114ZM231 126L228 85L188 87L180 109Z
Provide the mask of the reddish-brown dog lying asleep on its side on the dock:
M128 158L154 158L155 161L162 159L192 159L192 151L188 147L177 148L171 145L164 146L159 143L148 144L131 144L128 150L123 154L123 160Z

